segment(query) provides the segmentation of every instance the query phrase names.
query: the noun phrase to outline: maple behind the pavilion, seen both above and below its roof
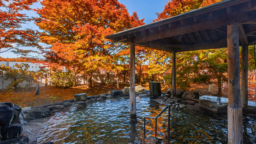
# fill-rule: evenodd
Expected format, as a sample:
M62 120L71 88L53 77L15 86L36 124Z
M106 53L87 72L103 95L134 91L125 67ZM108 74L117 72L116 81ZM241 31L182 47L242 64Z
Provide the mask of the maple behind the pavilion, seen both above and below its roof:
M157 20L173 17L181 13L208 6L221 0L172 0L167 1L164 10L156 13ZM221 94L221 81L227 72L225 49L180 52L176 54L177 85L186 88L191 82L212 83L217 79L218 93Z

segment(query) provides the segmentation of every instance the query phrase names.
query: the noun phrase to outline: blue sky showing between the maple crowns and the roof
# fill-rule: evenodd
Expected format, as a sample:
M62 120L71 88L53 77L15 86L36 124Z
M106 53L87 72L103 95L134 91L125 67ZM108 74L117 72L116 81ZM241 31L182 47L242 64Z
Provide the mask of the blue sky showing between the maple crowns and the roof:
M126 6L130 15L132 14L132 12L137 11L137 14L140 19L145 18L144 20L145 24L151 23L156 18L155 13L162 12L164 9L164 5L167 3L166 0L118 0L118 1ZM41 4L36 3L31 7L32 8L41 7ZM26 11L24 13L26 13L26 15L29 17L31 16L38 17L38 15L33 11ZM23 27L38 29L38 27L34 25L33 22L24 24ZM24 49L32 49L32 48L26 47ZM13 54L11 51L7 51L7 52L1 53L0 57L16 58L19 56L17 56L16 54Z

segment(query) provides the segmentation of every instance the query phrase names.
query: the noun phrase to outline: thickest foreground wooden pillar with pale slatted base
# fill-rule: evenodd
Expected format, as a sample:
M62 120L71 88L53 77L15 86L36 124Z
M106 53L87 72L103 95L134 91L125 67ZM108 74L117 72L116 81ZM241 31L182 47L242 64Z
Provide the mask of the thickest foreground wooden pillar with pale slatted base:
M238 24L227 26L228 35L228 143L242 144L242 108L240 97L240 60Z

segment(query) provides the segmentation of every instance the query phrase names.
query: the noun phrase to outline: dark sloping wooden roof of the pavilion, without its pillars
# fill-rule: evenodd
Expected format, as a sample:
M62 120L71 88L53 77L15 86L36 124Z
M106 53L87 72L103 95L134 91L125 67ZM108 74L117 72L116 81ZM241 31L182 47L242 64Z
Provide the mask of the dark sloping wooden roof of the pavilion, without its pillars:
M239 24L239 45L256 43L256 0L223 0L106 37L114 42L182 52L227 47L227 25Z

